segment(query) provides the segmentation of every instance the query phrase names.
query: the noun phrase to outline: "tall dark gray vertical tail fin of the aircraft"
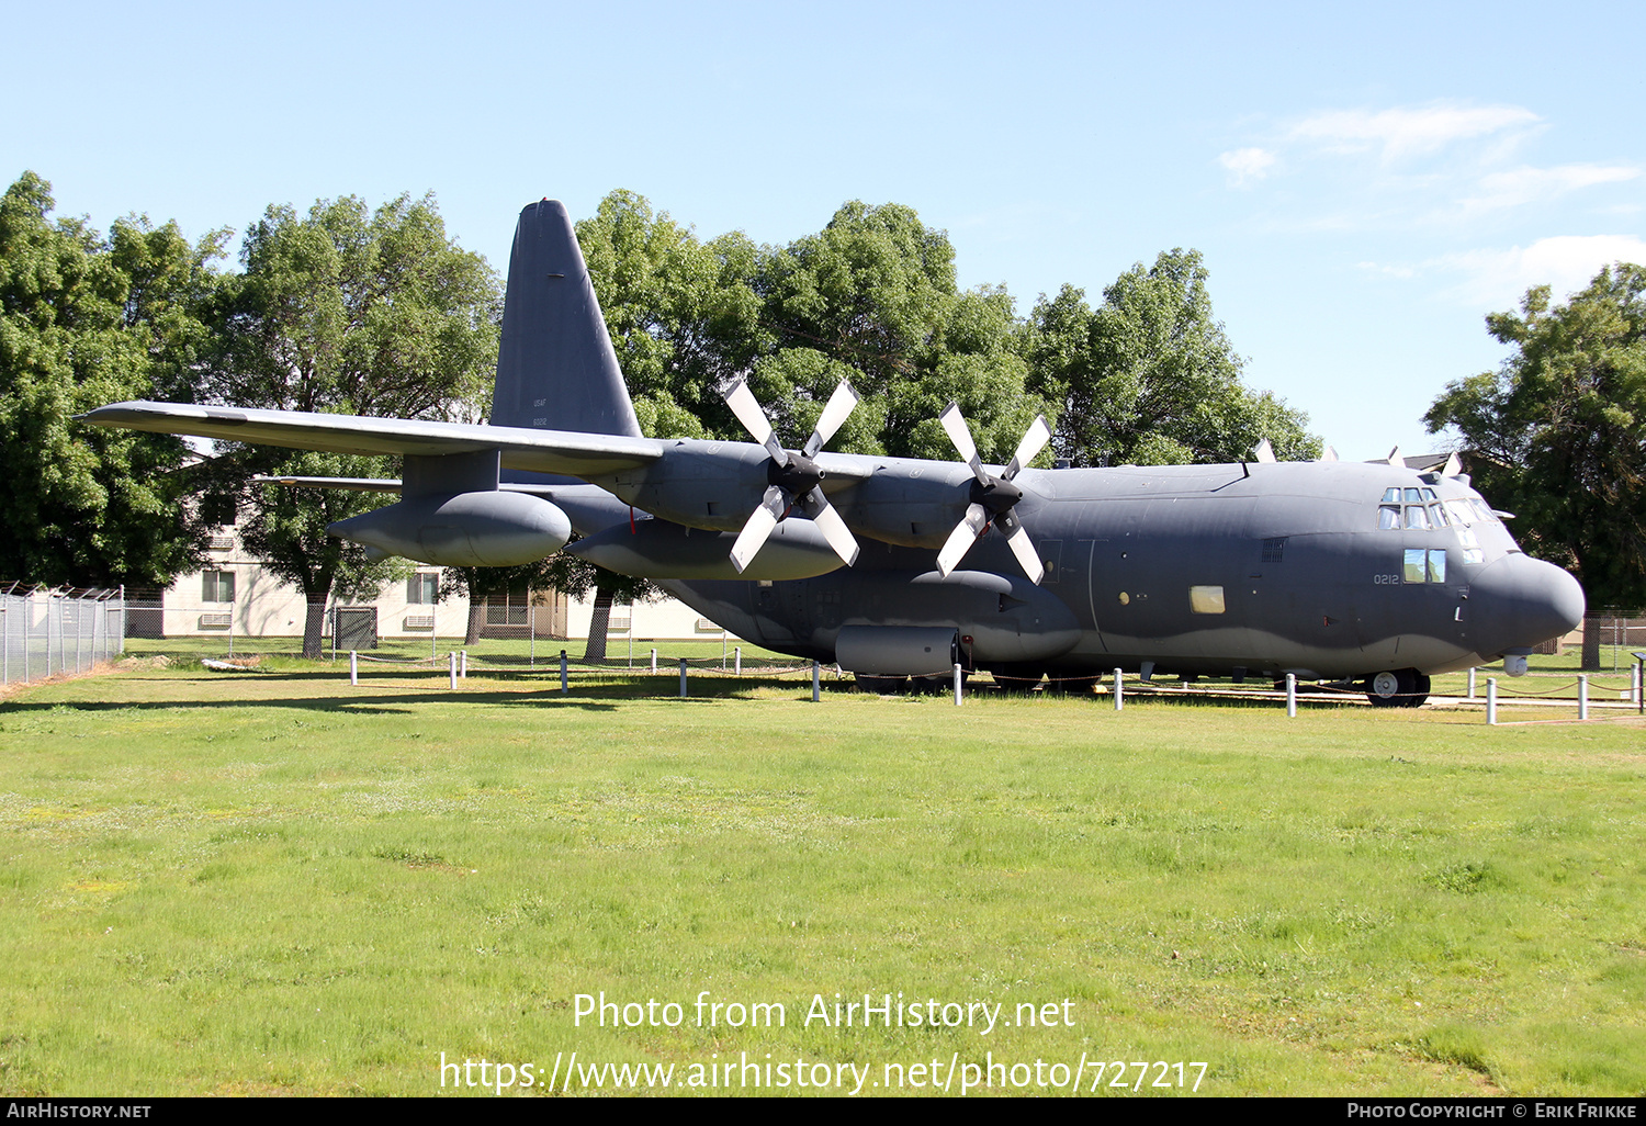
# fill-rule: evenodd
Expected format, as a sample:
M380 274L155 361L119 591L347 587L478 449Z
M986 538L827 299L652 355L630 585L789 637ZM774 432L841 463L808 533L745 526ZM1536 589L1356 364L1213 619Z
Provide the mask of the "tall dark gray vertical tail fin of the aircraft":
M491 421L640 436L601 303L565 204L530 204L515 226Z

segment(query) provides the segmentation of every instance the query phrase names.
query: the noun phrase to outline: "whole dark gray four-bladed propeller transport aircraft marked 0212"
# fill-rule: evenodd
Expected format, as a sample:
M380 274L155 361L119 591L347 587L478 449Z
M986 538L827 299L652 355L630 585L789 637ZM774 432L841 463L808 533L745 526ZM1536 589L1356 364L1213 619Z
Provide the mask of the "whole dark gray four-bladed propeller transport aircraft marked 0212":
M515 230L487 425L151 402L82 420L398 454L400 481L283 481L398 492L331 527L377 551L510 566L566 548L881 690L953 663L1088 691L1113 668L1295 673L1416 706L1430 675L1524 672L1583 617L1577 581L1524 555L1455 461L1276 463L1264 443L1228 466L1030 469L1037 420L993 468L953 405L956 463L830 454L858 402L844 384L798 451L746 384L726 398L756 443L640 435L571 221L545 199Z

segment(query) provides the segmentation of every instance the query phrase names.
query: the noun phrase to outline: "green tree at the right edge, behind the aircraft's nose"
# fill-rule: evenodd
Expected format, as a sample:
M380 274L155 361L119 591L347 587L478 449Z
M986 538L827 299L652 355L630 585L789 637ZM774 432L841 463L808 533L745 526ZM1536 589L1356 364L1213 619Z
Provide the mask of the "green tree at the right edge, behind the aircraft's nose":
M1565 305L1549 286L1486 329L1514 352L1447 385L1424 415L1455 426L1475 484L1513 509L1532 555L1574 570L1592 607L1646 607L1646 268L1616 263ZM1598 630L1583 665L1598 667Z

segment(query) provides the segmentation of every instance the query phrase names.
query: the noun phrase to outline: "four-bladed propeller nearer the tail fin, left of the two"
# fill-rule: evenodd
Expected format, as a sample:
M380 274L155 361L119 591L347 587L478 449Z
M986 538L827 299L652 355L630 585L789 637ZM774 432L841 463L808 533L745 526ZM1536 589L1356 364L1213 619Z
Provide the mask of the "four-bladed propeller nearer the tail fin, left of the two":
M839 519L839 514L835 512L835 505L823 496L823 486L818 484L823 481L823 471L813 458L823 448L823 443L835 436L835 431L846 421L846 416L851 415L858 405L858 392L846 380L841 380L835 393L830 395L828 405L823 407L816 430L811 431L805 448L800 451L783 449L777 441L772 421L765 416L765 408L760 407L754 392L749 390L747 380L737 380L737 385L726 392L726 405L731 407L731 413L737 415L737 421L772 456L765 468L765 479L770 484L760 499L760 507L749 514L742 532L737 533L737 542L731 547L731 563L737 568L737 573L742 575L749 561L765 545L767 537L772 535L777 522L797 505L818 527L828 545L835 548L835 555L846 560L846 566L856 563L858 540L851 535L846 522Z

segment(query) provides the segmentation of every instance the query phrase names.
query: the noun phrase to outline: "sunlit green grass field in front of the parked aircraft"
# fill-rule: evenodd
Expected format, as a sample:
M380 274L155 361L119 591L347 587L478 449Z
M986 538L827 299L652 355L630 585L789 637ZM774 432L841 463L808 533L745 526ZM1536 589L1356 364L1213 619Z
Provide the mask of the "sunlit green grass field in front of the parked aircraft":
M443 1088L444 1054L543 1093L578 1052L714 1093L746 1060L788 1067L777 1093L826 1065L846 1091L1080 1068L1129 1096L1114 1062L1151 1063L1139 1093L1188 1063L1200 1095L1646 1091L1633 713L811 703L805 672L708 670L678 700L673 668L581 667L563 696L482 657L456 691L140 658L0 703L0 1090L500 1085ZM579 1019L601 991L678 1026ZM1002 1007L805 1021L836 993ZM785 1024L739 1021L756 1003Z

